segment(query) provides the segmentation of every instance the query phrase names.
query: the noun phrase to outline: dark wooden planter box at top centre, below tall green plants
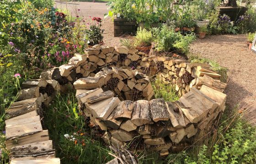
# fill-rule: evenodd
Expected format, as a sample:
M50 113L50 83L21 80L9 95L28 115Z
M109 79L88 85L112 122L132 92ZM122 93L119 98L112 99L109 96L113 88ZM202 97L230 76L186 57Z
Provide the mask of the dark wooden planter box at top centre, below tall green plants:
M128 21L125 18L114 19L114 37L123 35L135 35L136 21Z

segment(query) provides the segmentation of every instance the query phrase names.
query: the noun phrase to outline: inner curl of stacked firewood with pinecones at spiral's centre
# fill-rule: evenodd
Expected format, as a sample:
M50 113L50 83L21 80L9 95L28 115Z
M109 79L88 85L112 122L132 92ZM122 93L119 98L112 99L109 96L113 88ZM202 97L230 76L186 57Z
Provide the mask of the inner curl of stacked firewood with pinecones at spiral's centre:
M153 97L153 87L149 77L144 74L112 67L102 68L95 77L83 77L74 82L75 89L95 89L102 87L104 91L110 90L121 101L139 99L150 100Z

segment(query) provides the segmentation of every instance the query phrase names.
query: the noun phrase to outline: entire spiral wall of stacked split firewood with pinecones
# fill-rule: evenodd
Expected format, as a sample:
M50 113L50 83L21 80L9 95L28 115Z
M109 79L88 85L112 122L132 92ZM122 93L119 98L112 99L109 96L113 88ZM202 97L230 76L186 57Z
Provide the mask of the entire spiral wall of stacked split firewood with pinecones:
M154 98L153 77L174 85L180 99L165 102ZM68 64L42 72L40 79L22 83L18 102L6 110L7 148L11 159L16 159L26 156L24 152L12 153L21 145L30 149L34 143L49 142L48 155L54 156L49 138L37 136L48 136L37 108L42 103L47 106L54 91L75 88L80 110L90 118L91 125L106 131L102 138L107 144L129 144L131 149L143 146L165 156L192 144L198 131L211 128L224 111L226 84L220 77L207 64L96 45L86 49L85 55L75 54ZM27 117L37 128L29 126ZM26 124L22 124L24 121ZM16 123L21 123L19 130ZM32 139L28 141L28 137ZM33 155L40 156L44 149Z

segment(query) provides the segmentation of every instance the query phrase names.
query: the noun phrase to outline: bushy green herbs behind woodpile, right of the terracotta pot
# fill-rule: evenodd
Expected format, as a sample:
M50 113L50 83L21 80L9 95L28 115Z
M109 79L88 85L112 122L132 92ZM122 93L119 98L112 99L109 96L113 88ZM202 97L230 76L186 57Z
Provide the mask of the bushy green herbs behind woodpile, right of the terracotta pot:
M154 29L153 35L156 38L157 51L176 51L183 54L189 51L189 44L195 39L193 34L182 36L181 33L175 32L172 27L166 25Z

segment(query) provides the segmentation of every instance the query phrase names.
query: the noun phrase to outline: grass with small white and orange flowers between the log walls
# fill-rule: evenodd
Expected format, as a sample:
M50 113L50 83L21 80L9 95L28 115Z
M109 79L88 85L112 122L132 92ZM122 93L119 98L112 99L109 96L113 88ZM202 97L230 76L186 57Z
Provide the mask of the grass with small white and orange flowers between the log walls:
M93 129L91 131L86 125L78 109L75 93L57 95L46 109L44 122L50 138L54 140L61 163L102 164L112 159L107 154L109 150L98 139L91 138Z

